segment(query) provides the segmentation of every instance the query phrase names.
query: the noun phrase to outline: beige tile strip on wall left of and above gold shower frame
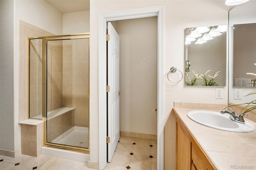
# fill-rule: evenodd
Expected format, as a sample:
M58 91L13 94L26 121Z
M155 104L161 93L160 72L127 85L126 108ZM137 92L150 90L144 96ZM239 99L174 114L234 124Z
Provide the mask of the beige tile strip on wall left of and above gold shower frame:
M28 119L28 37L52 36L52 35L53 34L51 34L50 32L47 32L45 30L42 30L41 28L35 27L31 24L28 24L20 20L19 122ZM42 63L40 63L40 60L36 62L37 62L36 65L38 64L38 68L39 68L39 65ZM40 85L38 80L38 89L39 89L39 86ZM40 105L39 100L38 100L38 105Z

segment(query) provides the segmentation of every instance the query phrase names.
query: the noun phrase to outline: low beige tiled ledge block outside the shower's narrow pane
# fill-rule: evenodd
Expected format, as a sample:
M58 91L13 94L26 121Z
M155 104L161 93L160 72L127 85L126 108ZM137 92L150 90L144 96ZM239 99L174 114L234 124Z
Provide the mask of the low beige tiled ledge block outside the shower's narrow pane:
M30 156L40 156L43 146L43 123L40 120L25 120L21 125L21 153Z

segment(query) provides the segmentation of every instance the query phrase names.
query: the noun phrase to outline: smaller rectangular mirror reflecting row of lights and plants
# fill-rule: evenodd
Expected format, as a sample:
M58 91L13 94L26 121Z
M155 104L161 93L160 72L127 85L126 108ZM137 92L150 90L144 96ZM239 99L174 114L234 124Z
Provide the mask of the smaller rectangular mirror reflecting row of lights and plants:
M227 26L186 28L186 86L226 85L226 31Z

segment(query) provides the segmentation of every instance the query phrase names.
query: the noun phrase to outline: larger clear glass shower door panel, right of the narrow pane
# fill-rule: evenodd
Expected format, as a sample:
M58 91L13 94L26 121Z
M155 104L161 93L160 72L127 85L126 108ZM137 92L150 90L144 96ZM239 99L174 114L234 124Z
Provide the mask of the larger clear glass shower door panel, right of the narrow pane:
M89 148L89 36L46 38L46 144Z

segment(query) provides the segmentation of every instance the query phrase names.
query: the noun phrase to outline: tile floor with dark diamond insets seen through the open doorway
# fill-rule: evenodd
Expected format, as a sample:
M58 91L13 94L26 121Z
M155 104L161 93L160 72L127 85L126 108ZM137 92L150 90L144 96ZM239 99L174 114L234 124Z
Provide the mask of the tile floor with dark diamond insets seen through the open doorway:
M107 170L157 170L157 140L120 136Z

